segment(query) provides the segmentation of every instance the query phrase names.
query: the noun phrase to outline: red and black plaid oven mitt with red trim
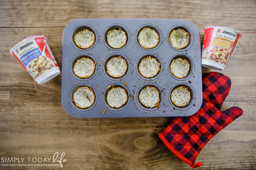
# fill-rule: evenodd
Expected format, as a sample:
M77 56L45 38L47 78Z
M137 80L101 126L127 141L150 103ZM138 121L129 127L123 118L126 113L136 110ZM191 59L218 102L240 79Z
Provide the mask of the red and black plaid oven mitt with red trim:
M203 103L195 115L175 117L159 137L174 155L192 168L205 144L220 130L243 114L239 107L220 112L228 96L231 80L221 73L210 72L203 78Z

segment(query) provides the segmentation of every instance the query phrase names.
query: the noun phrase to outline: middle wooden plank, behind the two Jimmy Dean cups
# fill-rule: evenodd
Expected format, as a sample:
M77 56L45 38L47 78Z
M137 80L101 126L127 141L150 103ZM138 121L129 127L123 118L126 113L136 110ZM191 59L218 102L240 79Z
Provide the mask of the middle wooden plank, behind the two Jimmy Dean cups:
M56 78L38 85L13 55L10 48L30 35L44 34L52 53L62 67L62 33L64 28L0 28L0 91L10 92L10 99L0 102L60 102L61 74ZM199 29L203 41L203 29ZM22 35L20 33L22 32ZM241 30L243 37L239 39L231 59L224 71L232 80L231 91L226 101L255 101L256 99L256 52L255 30ZM202 42L201 42L202 43ZM15 69L14 69L15 68ZM202 67L203 75L211 70Z

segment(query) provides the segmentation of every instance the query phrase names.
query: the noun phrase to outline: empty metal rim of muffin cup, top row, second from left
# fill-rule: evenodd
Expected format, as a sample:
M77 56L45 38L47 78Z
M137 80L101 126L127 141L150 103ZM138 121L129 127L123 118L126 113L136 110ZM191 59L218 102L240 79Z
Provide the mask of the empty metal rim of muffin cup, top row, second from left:
M116 49L116 48L112 48L112 47L110 47L110 46L108 45L107 35L108 35L108 31L110 31L110 30L112 30L112 29L117 29L117 30L119 30L119 28L121 28L121 30L123 30L123 31L125 32L125 34L126 34L126 43L125 43L124 47ZM121 50L123 50L124 48L126 48L126 47L129 45L130 40L131 40L131 34L130 34L129 30L128 30L125 26L123 26L123 25L121 25L121 24L113 24L113 25L108 26L108 27L105 29L103 35L104 35L103 44L104 44L108 49L110 49L111 51L121 51Z

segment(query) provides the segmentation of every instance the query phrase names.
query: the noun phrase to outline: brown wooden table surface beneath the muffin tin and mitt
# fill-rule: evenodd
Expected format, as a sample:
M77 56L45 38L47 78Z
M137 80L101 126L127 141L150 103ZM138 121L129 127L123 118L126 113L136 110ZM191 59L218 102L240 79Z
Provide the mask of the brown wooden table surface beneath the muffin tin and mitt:
M196 162L203 162L198 169L207 170L256 168L255 0L1 0L0 158L44 159L52 158L55 152L65 152L67 162L62 163L62 169L191 169L158 137L173 117L71 117L61 105L61 74L38 85L9 54L24 38L44 35L61 69L63 30L78 18L187 19L199 28L201 44L205 26L240 31L243 37L221 71L232 81L222 110L237 106L244 114L212 138ZM202 71L204 75L213 70L202 67ZM23 163L28 164L25 159ZM60 166L0 166L57 168Z

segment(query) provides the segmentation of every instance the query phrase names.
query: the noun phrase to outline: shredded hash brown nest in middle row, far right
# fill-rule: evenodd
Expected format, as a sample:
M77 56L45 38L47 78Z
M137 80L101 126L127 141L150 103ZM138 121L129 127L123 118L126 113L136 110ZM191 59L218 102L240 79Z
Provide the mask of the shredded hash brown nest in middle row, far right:
M188 75L189 63L186 59L177 58L172 60L170 70L173 76L177 78L184 78Z

